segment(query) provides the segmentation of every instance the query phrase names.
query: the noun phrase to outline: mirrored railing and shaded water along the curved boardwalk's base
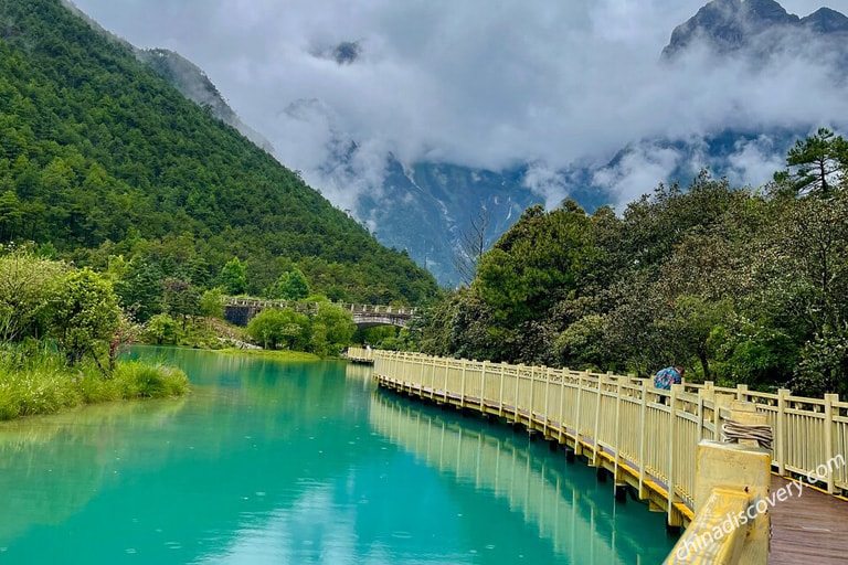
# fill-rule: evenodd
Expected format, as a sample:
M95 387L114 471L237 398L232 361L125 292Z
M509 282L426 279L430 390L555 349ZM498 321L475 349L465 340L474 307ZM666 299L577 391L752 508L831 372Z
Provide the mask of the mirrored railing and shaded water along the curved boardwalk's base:
M598 489L590 469L570 467L564 455L552 460L548 454L534 454L509 435L500 438L487 431L481 418L459 422L382 391L372 395L370 416L374 429L430 467L507 501L573 563L618 563L626 556L654 563L671 547L668 543L651 547L649 542L664 535L662 516L649 516L647 508L635 501L633 509L615 507L612 482L606 483L608 489ZM597 490L603 491L593 492ZM646 520L656 522L653 529L644 525Z

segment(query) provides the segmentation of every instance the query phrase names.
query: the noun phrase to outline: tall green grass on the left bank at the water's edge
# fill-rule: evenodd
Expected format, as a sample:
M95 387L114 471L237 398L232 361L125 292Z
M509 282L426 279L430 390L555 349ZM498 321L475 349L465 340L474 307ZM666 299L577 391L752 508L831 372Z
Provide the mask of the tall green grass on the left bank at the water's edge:
M68 365L43 345L0 347L0 420L54 414L83 404L181 396L189 379L179 369L118 361L106 377L94 364Z

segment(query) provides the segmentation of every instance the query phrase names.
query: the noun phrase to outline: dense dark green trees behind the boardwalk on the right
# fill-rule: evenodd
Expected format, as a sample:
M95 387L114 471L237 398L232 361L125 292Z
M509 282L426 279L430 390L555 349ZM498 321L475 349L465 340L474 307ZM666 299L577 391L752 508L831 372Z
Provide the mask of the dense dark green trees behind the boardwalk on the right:
M789 161L815 182L801 166L824 149L826 168L815 170L825 173L804 185L822 198L732 189L701 172L688 190L659 185L621 216L568 202L529 209L470 287L428 309L417 345L642 375L680 364L690 381L848 394L840 138L819 131Z

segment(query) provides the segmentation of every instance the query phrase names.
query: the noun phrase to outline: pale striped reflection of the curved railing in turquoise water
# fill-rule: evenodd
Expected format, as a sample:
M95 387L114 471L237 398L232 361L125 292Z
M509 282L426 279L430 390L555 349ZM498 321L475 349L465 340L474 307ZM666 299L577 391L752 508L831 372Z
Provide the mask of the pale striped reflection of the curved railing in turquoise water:
M507 500L510 510L520 512L572 563L616 563L621 550L643 556L649 551L644 539L616 530L615 515L598 510L582 492L564 459L551 466L523 447L380 393L372 396L370 420L378 433L428 466Z

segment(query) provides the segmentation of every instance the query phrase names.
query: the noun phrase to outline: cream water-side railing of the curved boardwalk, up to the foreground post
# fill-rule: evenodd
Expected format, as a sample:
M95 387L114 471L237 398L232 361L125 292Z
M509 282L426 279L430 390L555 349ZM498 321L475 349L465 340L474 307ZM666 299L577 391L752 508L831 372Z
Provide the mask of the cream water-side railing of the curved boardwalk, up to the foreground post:
M607 469L670 525L693 516L696 448L720 429L714 397L647 380L380 351L379 384L527 426Z

